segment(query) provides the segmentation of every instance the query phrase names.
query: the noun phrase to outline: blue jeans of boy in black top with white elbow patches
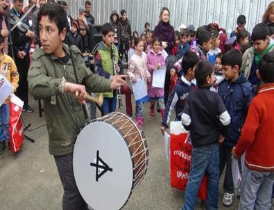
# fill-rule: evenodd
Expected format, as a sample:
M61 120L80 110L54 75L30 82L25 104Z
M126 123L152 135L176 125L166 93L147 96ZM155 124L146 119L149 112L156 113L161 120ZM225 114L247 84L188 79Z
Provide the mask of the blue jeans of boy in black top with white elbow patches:
M183 210L192 210L195 208L200 183L205 173L207 173L208 178L207 209L218 209L219 167L218 143L193 148Z

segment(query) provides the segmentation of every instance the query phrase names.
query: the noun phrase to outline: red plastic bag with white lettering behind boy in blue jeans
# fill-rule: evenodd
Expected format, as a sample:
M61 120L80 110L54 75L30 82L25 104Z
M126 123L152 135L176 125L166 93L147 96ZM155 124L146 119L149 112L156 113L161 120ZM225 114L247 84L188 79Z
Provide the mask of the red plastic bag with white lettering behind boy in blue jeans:
M192 145L189 143L189 132L181 122L171 122L170 135L171 187L185 190L189 180ZM198 197L207 200L207 177L200 184Z

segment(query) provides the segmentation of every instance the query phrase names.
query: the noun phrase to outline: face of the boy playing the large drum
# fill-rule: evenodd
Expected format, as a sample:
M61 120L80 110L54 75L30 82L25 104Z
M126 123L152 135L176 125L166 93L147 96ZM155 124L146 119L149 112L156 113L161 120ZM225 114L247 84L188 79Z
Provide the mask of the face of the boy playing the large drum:
M55 22L51 22L48 16L41 17L39 22L39 35L41 45L46 54L55 55L58 50L60 50L66 33L66 29L63 29L61 33L59 33L57 25Z

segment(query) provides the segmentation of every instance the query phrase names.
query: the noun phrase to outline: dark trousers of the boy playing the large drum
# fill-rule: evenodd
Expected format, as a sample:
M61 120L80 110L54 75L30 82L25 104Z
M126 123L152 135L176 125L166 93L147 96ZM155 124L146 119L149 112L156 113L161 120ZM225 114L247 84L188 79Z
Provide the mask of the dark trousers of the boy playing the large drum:
M87 204L80 195L74 179L74 170L72 166L73 154L54 156L54 159L64 188L62 209L87 210Z

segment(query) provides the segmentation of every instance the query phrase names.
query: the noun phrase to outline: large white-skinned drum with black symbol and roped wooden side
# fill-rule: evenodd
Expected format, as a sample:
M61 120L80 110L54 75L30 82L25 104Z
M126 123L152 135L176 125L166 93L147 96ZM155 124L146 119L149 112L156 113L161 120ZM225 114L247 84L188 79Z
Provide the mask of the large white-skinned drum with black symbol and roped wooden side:
M78 135L73 164L76 184L89 207L121 209L146 175L144 132L123 113L93 120Z

